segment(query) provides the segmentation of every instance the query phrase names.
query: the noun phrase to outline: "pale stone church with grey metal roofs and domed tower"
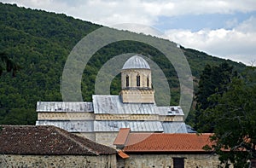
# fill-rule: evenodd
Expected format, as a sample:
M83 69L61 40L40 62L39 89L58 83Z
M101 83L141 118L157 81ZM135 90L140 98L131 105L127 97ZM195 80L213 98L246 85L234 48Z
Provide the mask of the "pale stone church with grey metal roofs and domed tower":
M38 101L36 125L55 125L108 146L113 146L121 128L188 133L181 107L155 104L152 80L148 62L134 55L121 70L119 96L93 95L92 102Z

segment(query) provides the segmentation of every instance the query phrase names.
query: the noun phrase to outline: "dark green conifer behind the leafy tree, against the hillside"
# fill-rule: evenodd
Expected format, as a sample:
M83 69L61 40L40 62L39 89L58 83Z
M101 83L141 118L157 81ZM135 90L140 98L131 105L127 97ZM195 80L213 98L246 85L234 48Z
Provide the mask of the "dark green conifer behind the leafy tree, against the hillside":
M224 62L219 66L207 65L201 73L199 90L195 95L195 129L200 130L203 125L212 125L207 132L212 132L214 122L208 121L204 118L204 111L208 107L214 107L218 104L218 101L210 100L209 97L213 94L222 95L226 90L227 84L230 83L230 79L234 76L233 67Z

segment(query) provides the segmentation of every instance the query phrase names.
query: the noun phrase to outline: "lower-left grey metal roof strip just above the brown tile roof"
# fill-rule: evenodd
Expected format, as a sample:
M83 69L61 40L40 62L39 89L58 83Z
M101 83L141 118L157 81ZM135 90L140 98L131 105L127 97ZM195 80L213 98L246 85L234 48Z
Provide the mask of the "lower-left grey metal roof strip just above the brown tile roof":
M55 121L55 120L39 120L36 125L54 125L61 129L67 130L69 132L92 132L93 131L93 121Z

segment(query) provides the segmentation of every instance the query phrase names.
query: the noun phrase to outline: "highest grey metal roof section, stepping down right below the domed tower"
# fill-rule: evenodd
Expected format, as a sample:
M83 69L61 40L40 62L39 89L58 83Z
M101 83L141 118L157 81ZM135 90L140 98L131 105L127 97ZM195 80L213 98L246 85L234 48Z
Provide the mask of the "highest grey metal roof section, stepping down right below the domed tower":
M123 103L120 96L94 95L94 113L158 114L153 103Z

